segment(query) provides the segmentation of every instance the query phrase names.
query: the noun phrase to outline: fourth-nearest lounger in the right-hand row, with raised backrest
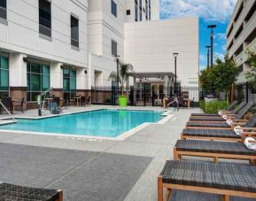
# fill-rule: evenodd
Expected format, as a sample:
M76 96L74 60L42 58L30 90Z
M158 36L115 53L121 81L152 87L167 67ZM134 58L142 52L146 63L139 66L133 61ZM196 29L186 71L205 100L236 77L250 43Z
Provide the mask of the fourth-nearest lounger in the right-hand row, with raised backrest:
M244 115L252 108L254 103L249 102L244 106L242 110L238 112L238 114L234 114L232 116L236 117L237 120L242 120ZM233 120L234 122L237 122L237 120ZM229 126L226 122L213 122L210 121L189 121L186 125L186 128L220 128L220 129L231 129L231 126Z

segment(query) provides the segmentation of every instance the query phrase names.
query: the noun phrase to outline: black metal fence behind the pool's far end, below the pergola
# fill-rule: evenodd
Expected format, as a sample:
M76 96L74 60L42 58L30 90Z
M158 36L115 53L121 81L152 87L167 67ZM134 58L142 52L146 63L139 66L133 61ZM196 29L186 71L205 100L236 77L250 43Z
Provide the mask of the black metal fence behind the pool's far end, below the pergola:
M176 93L175 93L176 90ZM198 106L198 101L205 97L203 89L194 86L182 86L177 89L174 87L151 87L144 85L142 88L133 86L125 89L112 87L92 87L91 103L92 104L112 104L116 105L117 97L122 94L128 97L128 104L134 106L162 106L165 97L172 97L175 94L185 98L190 98L191 106Z

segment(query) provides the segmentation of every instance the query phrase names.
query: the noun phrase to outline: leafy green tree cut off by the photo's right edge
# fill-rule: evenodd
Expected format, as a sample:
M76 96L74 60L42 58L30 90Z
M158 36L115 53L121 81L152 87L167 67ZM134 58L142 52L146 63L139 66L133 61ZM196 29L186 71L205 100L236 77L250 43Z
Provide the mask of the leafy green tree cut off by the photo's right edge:
M256 47L255 50L247 50L248 62L250 68L244 73L246 80L256 89Z

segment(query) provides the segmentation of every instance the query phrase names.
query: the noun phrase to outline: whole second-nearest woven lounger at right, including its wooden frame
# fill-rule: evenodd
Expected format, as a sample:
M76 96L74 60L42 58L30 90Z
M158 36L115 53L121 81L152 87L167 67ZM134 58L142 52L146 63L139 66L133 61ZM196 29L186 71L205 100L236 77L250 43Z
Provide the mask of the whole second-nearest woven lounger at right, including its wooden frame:
M249 160L256 164L256 151L249 150L244 143L216 142L202 140L178 140L174 148L174 158L182 156L196 156L214 158L233 158Z

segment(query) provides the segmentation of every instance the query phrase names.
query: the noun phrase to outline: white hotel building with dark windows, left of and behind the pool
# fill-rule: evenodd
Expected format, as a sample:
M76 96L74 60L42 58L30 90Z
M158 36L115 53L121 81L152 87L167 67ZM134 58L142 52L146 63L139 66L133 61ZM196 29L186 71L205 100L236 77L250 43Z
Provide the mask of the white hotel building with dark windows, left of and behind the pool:
M0 10L0 97L26 97L27 108L50 87L71 99L111 86L116 55L171 73L177 51L178 80L198 85L198 19L161 21L159 0L0 0Z

